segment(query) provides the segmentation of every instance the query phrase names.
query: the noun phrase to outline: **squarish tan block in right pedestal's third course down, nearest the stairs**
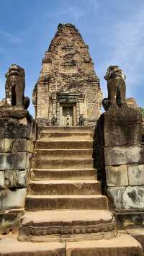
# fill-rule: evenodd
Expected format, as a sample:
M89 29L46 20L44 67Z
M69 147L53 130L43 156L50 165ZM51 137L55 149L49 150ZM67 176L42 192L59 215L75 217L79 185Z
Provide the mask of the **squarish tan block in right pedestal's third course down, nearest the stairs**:
M107 186L128 185L127 165L106 167Z

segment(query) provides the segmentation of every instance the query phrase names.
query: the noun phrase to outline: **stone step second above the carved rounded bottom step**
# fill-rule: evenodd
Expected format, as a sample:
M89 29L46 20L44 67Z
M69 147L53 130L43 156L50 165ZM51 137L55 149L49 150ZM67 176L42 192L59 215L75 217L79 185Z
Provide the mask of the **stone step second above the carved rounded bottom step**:
M99 195L101 182L96 180L30 181L29 195Z

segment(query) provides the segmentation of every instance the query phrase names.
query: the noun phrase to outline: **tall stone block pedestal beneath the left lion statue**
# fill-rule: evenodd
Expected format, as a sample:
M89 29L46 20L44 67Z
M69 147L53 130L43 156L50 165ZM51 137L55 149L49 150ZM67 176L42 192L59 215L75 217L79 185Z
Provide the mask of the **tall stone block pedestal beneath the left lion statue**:
M34 143L35 121L27 110L0 110L0 233L19 227Z

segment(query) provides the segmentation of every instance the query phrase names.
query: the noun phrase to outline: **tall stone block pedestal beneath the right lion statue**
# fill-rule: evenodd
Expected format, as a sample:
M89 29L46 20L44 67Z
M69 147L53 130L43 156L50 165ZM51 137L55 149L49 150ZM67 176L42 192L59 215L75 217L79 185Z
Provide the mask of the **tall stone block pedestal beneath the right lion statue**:
M143 227L144 147L138 110L109 110L98 122L101 169L109 204L121 227Z

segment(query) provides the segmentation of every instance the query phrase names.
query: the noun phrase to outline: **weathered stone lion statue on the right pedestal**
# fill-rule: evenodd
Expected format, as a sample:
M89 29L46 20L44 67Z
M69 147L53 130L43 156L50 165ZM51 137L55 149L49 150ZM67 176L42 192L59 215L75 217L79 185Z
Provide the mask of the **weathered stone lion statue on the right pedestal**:
M109 108L126 107L126 76L119 66L109 66L104 76L107 80L108 98L102 100L104 110Z

